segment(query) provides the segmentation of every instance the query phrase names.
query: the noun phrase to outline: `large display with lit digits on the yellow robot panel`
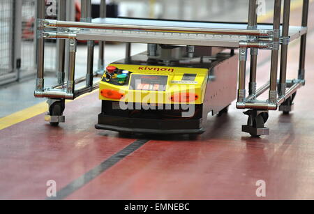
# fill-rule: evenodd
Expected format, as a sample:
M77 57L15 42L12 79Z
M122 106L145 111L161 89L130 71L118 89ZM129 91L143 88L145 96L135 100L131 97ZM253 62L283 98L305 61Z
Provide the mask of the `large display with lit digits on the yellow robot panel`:
M165 75L135 75L130 79L130 90L165 91L168 76Z

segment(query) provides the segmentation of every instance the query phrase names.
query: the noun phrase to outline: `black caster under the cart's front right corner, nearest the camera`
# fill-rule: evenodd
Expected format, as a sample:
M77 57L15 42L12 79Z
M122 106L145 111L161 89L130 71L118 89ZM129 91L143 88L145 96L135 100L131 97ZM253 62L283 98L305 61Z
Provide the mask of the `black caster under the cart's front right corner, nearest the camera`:
M247 125L242 125L242 132L249 133L252 137L260 137L260 135L269 135L269 128L264 127L268 119L268 112L257 111L254 109L244 112L248 115Z

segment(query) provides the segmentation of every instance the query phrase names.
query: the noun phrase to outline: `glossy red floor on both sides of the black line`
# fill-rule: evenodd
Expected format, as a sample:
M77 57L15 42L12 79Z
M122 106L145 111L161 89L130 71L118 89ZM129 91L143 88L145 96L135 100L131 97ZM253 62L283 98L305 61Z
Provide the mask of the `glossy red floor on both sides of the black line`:
M310 31L311 11L313 3ZM292 14L292 24L299 23L298 13ZM260 199L255 195L258 180L266 182L266 199L314 199L313 40L310 33L306 86L298 91L292 114L270 112L269 136L254 139L241 132L247 116L233 103L229 114L212 117L207 132L197 139L121 138L94 129L100 101L93 93L66 105L66 123L59 128L39 115L0 131L0 199L45 199L48 180L61 190L147 137L147 144L66 199ZM299 45L291 45L288 70L294 74L298 59ZM259 68L260 80L268 74L268 64Z

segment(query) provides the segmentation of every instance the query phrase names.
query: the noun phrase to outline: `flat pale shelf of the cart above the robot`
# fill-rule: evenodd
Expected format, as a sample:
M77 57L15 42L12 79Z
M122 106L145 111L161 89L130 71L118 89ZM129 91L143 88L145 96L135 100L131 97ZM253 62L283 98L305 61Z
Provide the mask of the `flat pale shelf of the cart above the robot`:
M247 40L247 36L232 35L231 33L185 33L172 32L170 29L190 29L191 31L246 31L247 23L231 24L218 22L182 22L182 21L164 21L164 20L138 20L126 18L98 18L93 23L103 24L103 26L112 28L114 26L133 26L133 29L82 29L77 31L77 40L106 40L128 43L158 43L170 45L205 45L216 47L239 47L241 40ZM154 29L163 29L165 31L135 30L139 27L154 26ZM272 31L272 24L259 24L257 31ZM307 28L302 26L290 26L290 41L299 38L306 33ZM282 32L282 31L281 31Z

